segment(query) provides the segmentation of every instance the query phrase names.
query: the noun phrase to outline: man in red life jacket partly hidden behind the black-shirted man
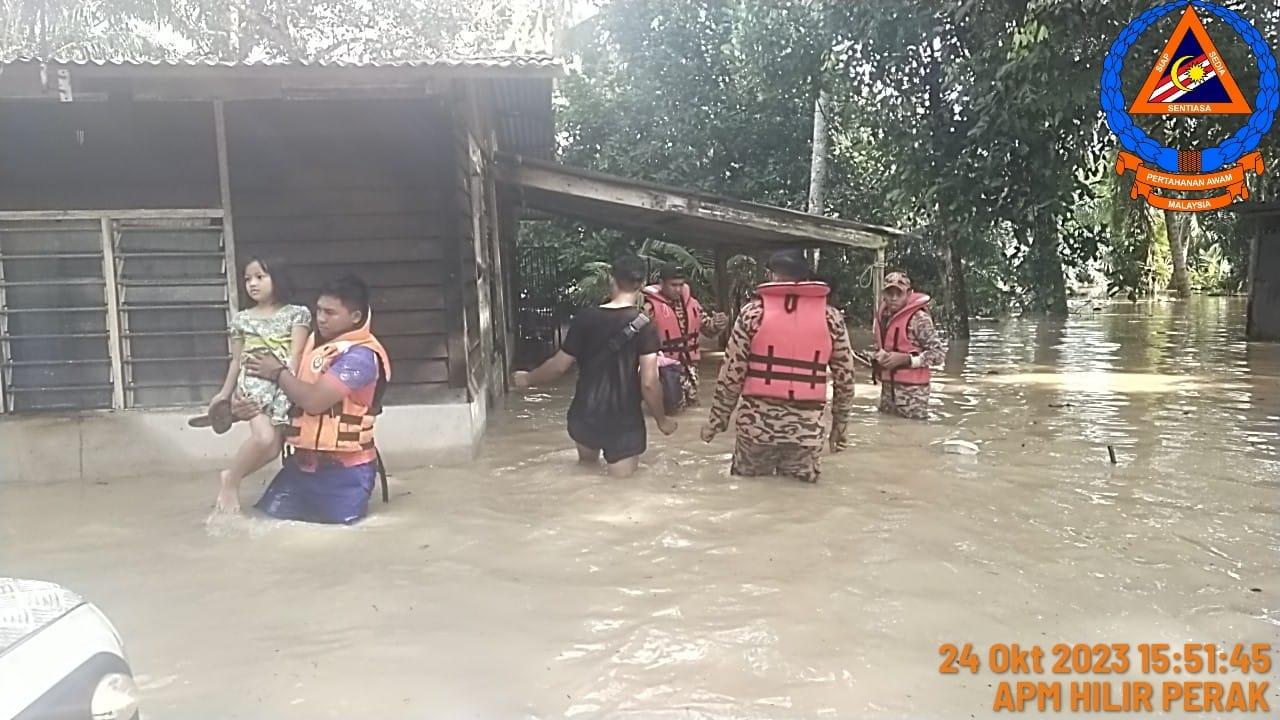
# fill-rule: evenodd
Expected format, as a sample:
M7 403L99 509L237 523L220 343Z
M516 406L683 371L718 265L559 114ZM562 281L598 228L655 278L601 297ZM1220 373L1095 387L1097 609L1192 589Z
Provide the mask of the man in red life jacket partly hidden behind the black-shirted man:
M658 328L662 354L680 364L680 407L695 406L698 363L703 357L699 338L723 332L728 316L716 313L704 324L703 306L690 291L685 270L675 263L658 269L658 283L646 286L643 297L640 309Z

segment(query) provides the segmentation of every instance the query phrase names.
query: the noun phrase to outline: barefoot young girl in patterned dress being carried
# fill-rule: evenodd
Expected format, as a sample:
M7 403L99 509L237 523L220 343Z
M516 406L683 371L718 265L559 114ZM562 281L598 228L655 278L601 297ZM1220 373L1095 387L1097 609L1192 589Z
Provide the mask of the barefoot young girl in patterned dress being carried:
M279 457L292 406L278 384L244 373L242 360L247 354L269 352L297 373L311 332L311 311L289 305L293 283L280 260L250 259L244 265L244 293L253 305L232 319L232 364L227 382L209 404L209 418L229 416L233 392L256 402L262 413L248 421L248 439L236 452L230 468L221 473L218 510L223 512L239 511L241 480Z

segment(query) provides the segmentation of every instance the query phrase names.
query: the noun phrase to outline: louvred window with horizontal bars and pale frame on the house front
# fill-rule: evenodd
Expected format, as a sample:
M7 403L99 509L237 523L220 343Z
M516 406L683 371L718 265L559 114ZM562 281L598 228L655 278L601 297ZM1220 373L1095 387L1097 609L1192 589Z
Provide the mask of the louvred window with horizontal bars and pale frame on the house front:
M206 401L234 287L220 218L0 213L0 413Z

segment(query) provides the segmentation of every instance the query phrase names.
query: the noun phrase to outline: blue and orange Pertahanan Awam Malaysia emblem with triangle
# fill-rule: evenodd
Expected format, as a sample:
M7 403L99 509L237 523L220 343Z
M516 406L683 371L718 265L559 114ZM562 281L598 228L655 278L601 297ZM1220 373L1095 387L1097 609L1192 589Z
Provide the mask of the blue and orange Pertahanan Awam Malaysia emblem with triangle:
M1125 55L1151 26L1179 8L1183 15L1178 27L1126 111L1120 87ZM1257 59L1258 96L1253 108L1240 92L1197 9L1220 20L1215 28L1230 27ZM1245 173L1265 172L1257 146L1271 131L1280 104L1277 86L1280 78L1271 47L1252 23L1229 8L1206 0L1176 0L1152 8L1129 23L1102 64L1102 111L1124 149L1116 161L1116 173L1134 172L1129 197L1142 197L1161 210L1192 213L1219 210L1238 197L1248 200ZM1226 114L1248 114L1248 119L1226 142L1206 150L1165 147L1135 126L1132 117ZM1156 190L1192 192L1198 197L1172 197Z

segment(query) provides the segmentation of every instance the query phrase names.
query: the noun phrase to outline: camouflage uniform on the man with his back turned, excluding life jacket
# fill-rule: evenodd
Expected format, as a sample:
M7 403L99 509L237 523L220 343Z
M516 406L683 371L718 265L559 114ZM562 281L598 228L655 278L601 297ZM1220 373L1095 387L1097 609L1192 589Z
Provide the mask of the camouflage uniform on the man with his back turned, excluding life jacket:
M763 316L764 305L759 300L742 307L724 348L724 364L716 383L708 423L716 433L727 430L737 407L732 474L777 474L815 483L822 470L822 448L828 438L823 427L826 402L742 396L751 338L760 328ZM836 434L844 438L854 406L854 352L840 310L827 307L827 328L832 341L828 363L828 380L833 387L832 423Z

